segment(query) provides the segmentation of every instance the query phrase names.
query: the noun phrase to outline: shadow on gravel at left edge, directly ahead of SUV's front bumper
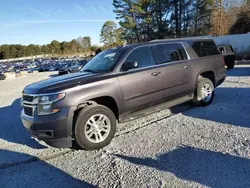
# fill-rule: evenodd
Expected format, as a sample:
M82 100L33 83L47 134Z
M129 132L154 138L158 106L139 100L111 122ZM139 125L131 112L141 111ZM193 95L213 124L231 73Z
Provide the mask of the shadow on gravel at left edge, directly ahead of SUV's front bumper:
M21 99L16 99L12 105L0 108L0 139L17 144L27 145L35 149L43 149L45 146L40 145L26 132L22 125Z

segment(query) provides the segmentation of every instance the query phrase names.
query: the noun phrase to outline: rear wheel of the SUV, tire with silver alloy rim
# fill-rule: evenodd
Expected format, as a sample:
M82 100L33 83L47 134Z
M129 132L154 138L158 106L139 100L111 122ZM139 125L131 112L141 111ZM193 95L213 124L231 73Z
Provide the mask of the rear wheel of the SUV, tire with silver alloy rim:
M211 90L208 91L207 86L210 86ZM205 93L202 90L207 91L207 98L204 97ZM193 103L196 106L207 106L213 102L214 99L214 84L208 78L199 77L198 83L193 98Z

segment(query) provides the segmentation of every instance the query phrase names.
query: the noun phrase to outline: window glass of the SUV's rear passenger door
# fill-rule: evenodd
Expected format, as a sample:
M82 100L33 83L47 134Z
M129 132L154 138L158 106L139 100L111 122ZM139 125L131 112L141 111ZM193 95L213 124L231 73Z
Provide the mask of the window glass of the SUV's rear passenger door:
M187 59L187 54L180 43L159 44L153 46L159 64Z

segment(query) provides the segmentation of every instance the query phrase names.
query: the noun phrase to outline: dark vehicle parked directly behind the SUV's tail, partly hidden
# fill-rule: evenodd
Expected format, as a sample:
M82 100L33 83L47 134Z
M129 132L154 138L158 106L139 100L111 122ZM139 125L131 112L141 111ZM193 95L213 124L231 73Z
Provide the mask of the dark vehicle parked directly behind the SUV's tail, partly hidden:
M219 50L224 57L227 69L233 69L235 65L235 54L231 45L219 46Z

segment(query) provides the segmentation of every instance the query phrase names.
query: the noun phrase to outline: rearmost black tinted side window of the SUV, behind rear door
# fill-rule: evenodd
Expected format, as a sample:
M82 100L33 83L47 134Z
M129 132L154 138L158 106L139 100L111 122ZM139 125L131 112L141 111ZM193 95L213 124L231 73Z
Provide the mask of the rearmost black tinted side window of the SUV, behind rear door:
M217 46L213 41L192 41L188 42L189 45L194 49L199 57L206 57L212 55L218 55L220 52L218 51Z

